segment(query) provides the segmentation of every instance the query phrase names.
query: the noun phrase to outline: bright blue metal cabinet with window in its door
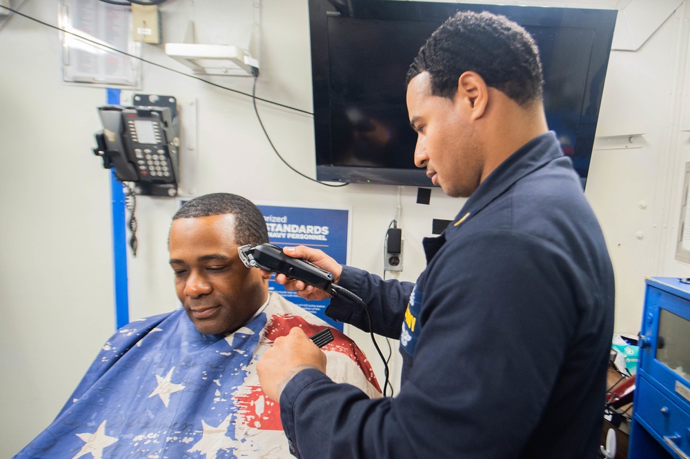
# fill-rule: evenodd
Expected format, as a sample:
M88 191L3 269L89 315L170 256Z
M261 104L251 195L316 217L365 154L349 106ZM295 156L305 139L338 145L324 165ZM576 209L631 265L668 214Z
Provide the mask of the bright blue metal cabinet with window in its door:
M649 278L629 459L690 458L690 279Z

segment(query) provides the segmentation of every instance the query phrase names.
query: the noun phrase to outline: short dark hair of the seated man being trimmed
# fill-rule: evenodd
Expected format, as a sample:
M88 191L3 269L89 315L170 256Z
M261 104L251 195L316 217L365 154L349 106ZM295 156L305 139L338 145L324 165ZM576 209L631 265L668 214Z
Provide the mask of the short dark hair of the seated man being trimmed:
M172 220L225 214L235 216L235 244L254 246L268 242L264 215L253 202L237 194L212 193L198 196L184 203L172 216Z

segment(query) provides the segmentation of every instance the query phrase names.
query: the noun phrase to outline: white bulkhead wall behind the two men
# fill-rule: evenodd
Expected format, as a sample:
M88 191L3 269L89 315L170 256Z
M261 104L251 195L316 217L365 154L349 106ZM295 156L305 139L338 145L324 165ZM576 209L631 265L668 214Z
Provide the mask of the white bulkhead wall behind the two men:
M235 21L233 3L235 10L246 11L239 8L246 1L163 3L164 41L182 41L190 19L197 41L224 41ZM9 3L57 24L56 0ZM687 0L520 4L624 12L615 43L625 49L611 52L586 196L600 218L615 268L615 329L636 333L645 276L690 276L690 265L674 258L684 167L690 161ZM223 15L227 19L218 19ZM257 96L311 111L308 27L306 0L262 0ZM143 57L188 72L166 56L163 45L145 45ZM63 83L60 63L56 30L18 16L0 29L3 457L48 425L115 330L110 172L91 154L93 134L101 128L96 108L106 94L102 88ZM251 91L248 78L213 81ZM399 203L398 226L405 239L400 279L406 281L415 281L424 268L420 240L431 234L431 219L451 219L462 206L462 200L440 190L432 191L430 205L420 205L414 187L331 189L306 181L277 159L250 99L241 94L146 63L140 92L173 95L182 117L195 116L195 194L224 191L259 203L351 207L350 261L371 272L382 274L384 235ZM311 116L261 102L258 107L282 156L313 176ZM131 318L177 306L166 244L178 205L179 199L170 198L137 202L139 254L128 259ZM352 329L351 335L382 382L368 336ZM394 356L396 348L393 343ZM393 367L395 374L397 363ZM397 390L397 376L393 381Z

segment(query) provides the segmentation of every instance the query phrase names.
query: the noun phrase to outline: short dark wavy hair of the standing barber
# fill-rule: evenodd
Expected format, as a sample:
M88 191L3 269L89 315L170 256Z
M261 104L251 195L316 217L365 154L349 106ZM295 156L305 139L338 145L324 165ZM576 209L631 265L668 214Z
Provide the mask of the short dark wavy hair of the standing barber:
M542 100L544 77L531 35L508 18L460 11L426 40L407 72L407 83L431 74L431 94L453 99L457 80L473 71L519 105Z

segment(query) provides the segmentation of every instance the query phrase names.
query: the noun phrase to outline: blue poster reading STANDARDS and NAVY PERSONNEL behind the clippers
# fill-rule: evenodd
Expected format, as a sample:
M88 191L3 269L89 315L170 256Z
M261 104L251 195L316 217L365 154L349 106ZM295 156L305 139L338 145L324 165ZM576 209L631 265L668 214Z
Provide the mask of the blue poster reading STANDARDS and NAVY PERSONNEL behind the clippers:
M348 263L350 238L349 209L320 209L317 207L285 207L257 205L264 214L268 238L280 247L306 245L321 249L342 265ZM331 300L307 301L295 292L288 292L273 278L268 283L271 292L281 294L296 305L315 314L329 325L343 331L343 324L326 317L324 311Z

